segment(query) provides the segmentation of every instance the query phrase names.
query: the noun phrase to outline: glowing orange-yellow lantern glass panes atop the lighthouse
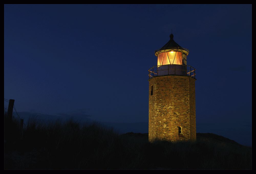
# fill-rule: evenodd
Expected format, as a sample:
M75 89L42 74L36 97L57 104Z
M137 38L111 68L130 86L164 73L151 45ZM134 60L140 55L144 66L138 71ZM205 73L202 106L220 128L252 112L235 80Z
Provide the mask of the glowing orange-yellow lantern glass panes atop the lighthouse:
M182 52L169 51L157 55L157 66L177 64L182 65Z

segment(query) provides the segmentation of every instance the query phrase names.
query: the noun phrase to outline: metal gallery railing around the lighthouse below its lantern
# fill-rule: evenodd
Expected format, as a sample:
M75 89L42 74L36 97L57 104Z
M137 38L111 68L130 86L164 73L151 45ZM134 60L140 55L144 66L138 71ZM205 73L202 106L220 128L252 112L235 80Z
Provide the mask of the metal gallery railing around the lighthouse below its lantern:
M148 70L149 79L161 75L182 75L196 79L196 69L190 65L169 64L154 66Z

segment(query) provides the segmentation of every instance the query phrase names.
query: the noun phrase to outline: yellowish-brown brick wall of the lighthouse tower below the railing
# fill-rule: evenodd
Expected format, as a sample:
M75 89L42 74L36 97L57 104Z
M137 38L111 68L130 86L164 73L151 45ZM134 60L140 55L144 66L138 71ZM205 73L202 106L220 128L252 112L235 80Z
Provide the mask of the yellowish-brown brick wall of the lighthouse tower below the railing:
M196 80L190 76L164 75L148 81L148 140L196 140Z

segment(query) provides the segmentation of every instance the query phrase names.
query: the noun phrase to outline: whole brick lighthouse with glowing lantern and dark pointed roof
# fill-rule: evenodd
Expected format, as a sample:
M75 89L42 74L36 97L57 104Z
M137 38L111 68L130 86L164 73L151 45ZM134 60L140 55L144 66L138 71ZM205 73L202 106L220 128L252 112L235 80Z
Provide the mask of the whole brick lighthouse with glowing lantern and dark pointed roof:
M148 70L148 140L196 140L196 69L187 65L188 49L170 40L155 51Z

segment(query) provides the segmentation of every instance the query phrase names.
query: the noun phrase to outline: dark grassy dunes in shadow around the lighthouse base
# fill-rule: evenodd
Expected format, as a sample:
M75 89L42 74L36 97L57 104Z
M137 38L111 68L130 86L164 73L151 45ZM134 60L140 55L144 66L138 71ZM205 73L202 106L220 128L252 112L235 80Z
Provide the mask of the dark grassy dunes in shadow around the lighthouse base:
M4 120L4 169L251 169L252 150L215 134L196 142L148 142L98 124Z

